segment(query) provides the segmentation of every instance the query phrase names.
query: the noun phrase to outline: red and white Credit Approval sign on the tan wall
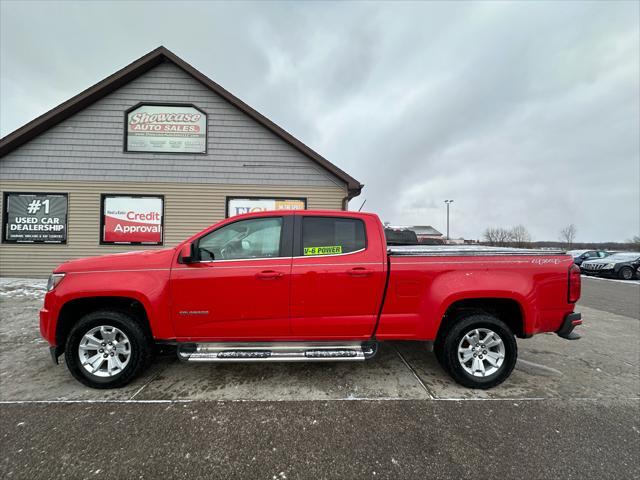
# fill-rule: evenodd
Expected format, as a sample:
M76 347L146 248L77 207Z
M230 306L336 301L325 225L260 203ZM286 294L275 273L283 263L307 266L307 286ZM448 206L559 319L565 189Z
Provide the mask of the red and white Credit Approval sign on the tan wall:
M162 243L162 197L103 197L103 243Z

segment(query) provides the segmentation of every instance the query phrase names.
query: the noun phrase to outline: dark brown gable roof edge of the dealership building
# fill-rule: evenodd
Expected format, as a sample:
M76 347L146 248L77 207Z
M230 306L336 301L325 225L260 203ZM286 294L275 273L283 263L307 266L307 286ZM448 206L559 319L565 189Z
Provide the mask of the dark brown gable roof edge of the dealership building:
M4 157L12 150L15 150L20 145L28 142L32 138L40 135L52 126L62 122L63 120L66 120L80 110L88 107L97 100L100 100L101 98L117 90L123 85L138 78L140 75L148 72L153 67L166 61L177 65L179 68L202 83L205 87L209 88L210 90L227 100L229 103L239 108L242 112L266 127L268 130L276 134L285 142L302 152L311 160L315 161L325 170L331 172L333 175L343 180L347 184L347 188L349 190L349 198L356 197L360 194L360 191L362 190L362 187L364 187L364 185L362 185L359 181L357 181L355 178L353 178L351 175L347 174L340 168L336 167L322 155L312 150L310 147L302 143L289 132L273 123L257 110L251 108L238 97L222 88L209 77L189 65L187 62L185 62L163 46L152 50L133 63L127 65L123 69L118 70L113 75L108 76L104 80L96 83L94 86L87 88L83 92L80 92L78 95L70 98L66 102L61 103L57 107L49 110L43 115L40 115L26 125L18 128L17 130L0 139L0 158Z

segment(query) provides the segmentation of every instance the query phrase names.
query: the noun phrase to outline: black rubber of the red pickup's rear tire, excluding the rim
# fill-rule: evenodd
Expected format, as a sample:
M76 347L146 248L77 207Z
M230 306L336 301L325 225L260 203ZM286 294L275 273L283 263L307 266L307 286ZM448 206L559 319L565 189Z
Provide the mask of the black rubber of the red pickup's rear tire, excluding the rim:
M497 371L486 377L474 376L467 372L458 359L458 346L463 337L477 328L495 332L504 344L502 364ZM518 358L518 345L513 332L502 320L487 313L473 314L456 320L443 335L440 348L441 359L438 361L443 368L456 382L469 388L487 389L501 384L511 375Z

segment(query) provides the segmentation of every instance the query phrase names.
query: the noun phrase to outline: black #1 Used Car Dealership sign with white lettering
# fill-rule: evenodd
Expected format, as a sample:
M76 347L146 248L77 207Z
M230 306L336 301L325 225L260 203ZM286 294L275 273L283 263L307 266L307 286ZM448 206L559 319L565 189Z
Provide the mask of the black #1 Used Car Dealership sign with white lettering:
M4 194L2 240L6 243L66 243L66 193Z

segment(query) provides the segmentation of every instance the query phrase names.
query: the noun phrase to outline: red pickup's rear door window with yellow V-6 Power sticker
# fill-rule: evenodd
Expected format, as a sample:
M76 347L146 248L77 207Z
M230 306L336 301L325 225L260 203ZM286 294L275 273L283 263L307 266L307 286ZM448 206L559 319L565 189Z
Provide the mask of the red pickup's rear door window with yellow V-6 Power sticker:
M341 255L364 250L366 245L364 222L360 219L302 218L302 256Z

